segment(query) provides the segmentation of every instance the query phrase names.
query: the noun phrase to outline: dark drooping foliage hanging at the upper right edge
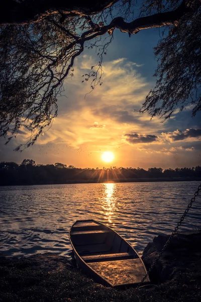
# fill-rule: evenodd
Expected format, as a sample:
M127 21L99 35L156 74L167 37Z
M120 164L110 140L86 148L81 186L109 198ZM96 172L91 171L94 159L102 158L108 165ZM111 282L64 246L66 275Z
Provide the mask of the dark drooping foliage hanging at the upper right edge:
M142 112L165 119L177 109L192 105L192 115L201 110L201 18L200 8L190 18L182 18L155 47L158 67L156 86L143 104Z

